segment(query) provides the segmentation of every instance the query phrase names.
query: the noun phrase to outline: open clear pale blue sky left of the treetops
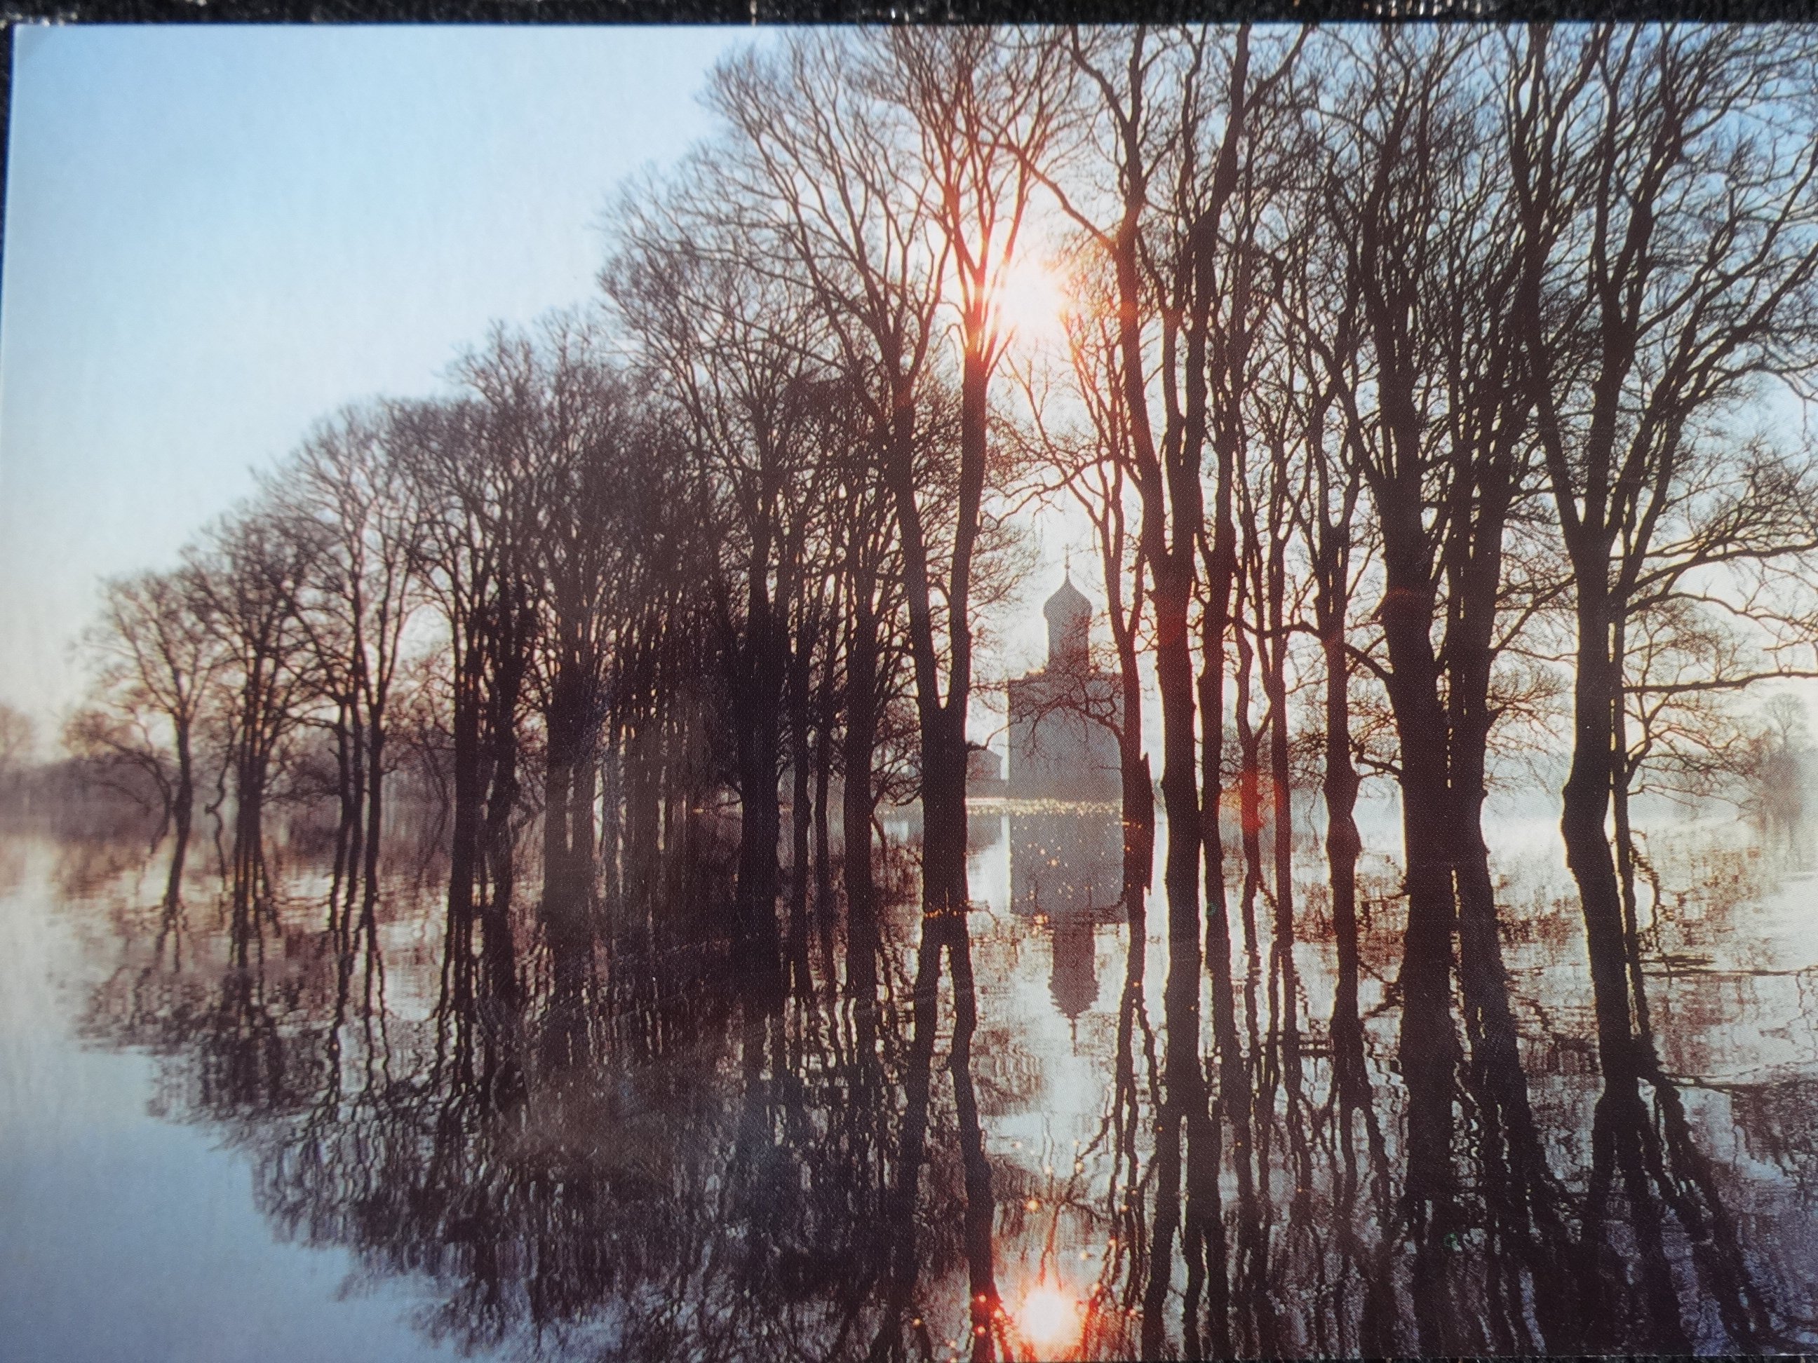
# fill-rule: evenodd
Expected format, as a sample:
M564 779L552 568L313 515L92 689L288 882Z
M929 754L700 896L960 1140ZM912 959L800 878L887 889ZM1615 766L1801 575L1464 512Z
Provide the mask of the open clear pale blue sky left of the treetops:
M49 738L105 574L309 423L589 296L624 176L751 29L20 27L0 294L0 700Z

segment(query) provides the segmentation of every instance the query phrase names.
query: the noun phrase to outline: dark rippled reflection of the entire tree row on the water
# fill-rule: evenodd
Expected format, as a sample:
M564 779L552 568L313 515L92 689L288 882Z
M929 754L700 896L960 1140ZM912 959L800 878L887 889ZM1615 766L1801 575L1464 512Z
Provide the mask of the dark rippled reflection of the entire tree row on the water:
M98 887L138 856L75 847L62 874ZM1545 1063L1582 1014L1507 992L1465 1007L1449 1219L1422 1234L1402 1199L1409 1099L1385 1063L1400 1000L1367 952L1349 983L1322 974L1316 912L1287 980L1264 943L1276 912L1213 994L1216 961L1171 943L1151 1030L1133 900L1114 1001L1091 1009L1114 1027L1073 1043L1104 1047L1100 1127L1074 1176L1044 1185L1014 1156L987 1163L987 1129L1033 1110L1044 1061L1024 1020L980 1018L978 947L951 923L916 952L913 909L884 903L836 941L845 990L811 981L771 1010L742 1001L694 898L614 910L598 940L536 930L569 918L538 900L513 916L520 985L496 992L484 958L449 963L424 934L435 869L307 881L304 863L256 865L225 883L173 880L162 858L129 876L142 903L113 909L125 952L89 1032L164 1054L160 1110L249 1154L282 1234L345 1247L367 1281L427 1283L422 1327L462 1347L922 1359L984 1328L974 1358L1022 1358L1018 1292L1069 1261L1085 1356L1805 1338L1765 1294L1809 1274L1783 1232L1814 1181L1798 1083L1694 1094L1640 1045L1640 1067L1593 1089L1589 1063ZM709 865L694 881L724 890L729 867ZM1265 876L1254 894L1273 909L1278 889ZM1383 912L1374 894L1364 907ZM938 998L940 974L951 1010L902 1007ZM1662 1041L1698 1029L1683 1007L1649 1016ZM1498 1018L1522 1036L1493 1036ZM1234 1045L1207 1054L1207 1036ZM1709 1152L1725 1110L1754 1163Z

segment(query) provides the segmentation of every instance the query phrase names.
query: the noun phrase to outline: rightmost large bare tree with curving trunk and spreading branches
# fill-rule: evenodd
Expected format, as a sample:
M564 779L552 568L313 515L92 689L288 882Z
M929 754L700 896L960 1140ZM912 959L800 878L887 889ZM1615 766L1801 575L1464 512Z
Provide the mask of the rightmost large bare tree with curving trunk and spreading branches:
M1725 458L1700 422L1818 369L1811 71L1809 38L1613 25L1536 29L1518 65L1511 169L1533 245L1516 323L1576 578L1562 831L1613 1067L1633 1063L1605 832L1627 618L1694 567L1818 542L1794 469L1743 451L1718 480L1740 496L1693 494Z

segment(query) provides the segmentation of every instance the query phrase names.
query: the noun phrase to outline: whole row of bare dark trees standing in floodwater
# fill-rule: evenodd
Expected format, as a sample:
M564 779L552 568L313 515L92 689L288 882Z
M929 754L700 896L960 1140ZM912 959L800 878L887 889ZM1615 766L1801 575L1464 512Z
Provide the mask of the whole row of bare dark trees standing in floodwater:
M1136 914L1160 765L1171 1025L1196 1027L1209 967L1234 1060L1231 905L1254 952L1258 896L1293 998L1309 738L1356 1016L1354 805L1391 774L1411 1150L1440 1170L1454 985L1513 1061L1498 749L1569 709L1598 1043L1640 1072L1629 798L1702 771L1716 698L1811 674L1814 56L1727 27L787 35L713 73L714 140L624 191L596 313L496 333L442 398L344 413L176 571L115 583L73 738L142 761L184 831L205 731L256 849L313 736L369 878L385 774L422 756L451 943L500 992L527 811L542 929L580 949L602 892L649 894L640 856L736 794L716 930L774 994L809 890L834 912L834 783L849 943L874 940L876 801L913 792L914 1045L945 956L958 1081L980 618L1018 500L1071 498L1124 689ZM1038 256L1069 298L1047 345L1016 334ZM871 950L847 987L871 996Z

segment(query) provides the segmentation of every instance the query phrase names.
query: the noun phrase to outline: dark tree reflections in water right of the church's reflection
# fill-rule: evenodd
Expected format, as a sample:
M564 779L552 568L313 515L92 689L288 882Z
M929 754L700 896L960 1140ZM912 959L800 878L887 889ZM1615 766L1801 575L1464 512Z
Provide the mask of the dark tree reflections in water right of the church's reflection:
M1271 900L1267 878L1247 892ZM1449 1201L1443 1219L1411 1223L1400 1194L1418 1152L1400 1136L1403 1090L1380 1078L1374 1030L1393 996L1364 1012L1356 976L1344 970L1333 981L1331 1027L1320 1029L1289 1016L1307 1003L1282 987L1274 943L1244 952L1229 990L1214 981L1211 1032L1240 1045L1216 1052L1218 1083L1200 1090L1207 1121L1194 1092L1202 1067L1189 1069L1200 1036L1196 998L1184 983L1196 978L1191 945L1173 941L1169 952L1176 989L1162 1045L1176 1069L1164 1063L1171 1085L1154 1101L1154 1152L1144 1167L1154 1199L1147 1254L1116 1256L1120 1272L1144 1283L1145 1328L1140 1339L1120 1334L1127 1298L1118 1296L1116 1276L1102 1278L1102 1325L1089 1336L1096 1352L1380 1356L1434 1341L1500 1354L1785 1345L1785 1325L1776 1334L1782 1318L1760 1283L1789 1274L1751 1272L1754 1256L1742 1252L1749 1239L1736 1229L1725 1165L1700 1150L1658 1065L1629 1081L1607 1079L1594 1118L1589 1103L1560 1103L1551 1087L1536 1098L1514 1023L1527 1001L1516 1007L1500 972L1467 981L1469 1045L1451 1079L1460 1132L1445 1152L1447 1169L1427 1174L1429 1187L1449 1185ZM1218 961L1211 965L1216 972ZM1131 980L1142 980L1140 969L1127 972L1127 990ZM1238 1005L1233 1021L1216 1016L1222 992ZM1138 1016L1125 994L1107 1112L1125 1129L1136 1098ZM1563 1081L1574 1083L1569 1074ZM1574 1174L1578 1150L1591 1156L1589 1187ZM1113 1207L1116 1198L1113 1181Z

